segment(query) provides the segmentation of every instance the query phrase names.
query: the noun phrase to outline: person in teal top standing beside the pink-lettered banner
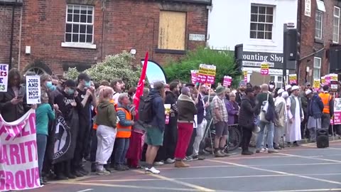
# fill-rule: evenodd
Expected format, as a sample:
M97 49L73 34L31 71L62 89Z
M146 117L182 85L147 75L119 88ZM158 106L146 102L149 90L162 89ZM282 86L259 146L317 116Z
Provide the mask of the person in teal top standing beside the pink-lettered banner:
M45 149L48 143L48 122L55 119L55 112L48 104L48 93L41 92L41 104L36 110L36 130L37 130L37 151L38 151L38 166L40 175L40 184L44 184L41 171L43 170L43 161L45 156ZM55 107L58 110L58 107Z

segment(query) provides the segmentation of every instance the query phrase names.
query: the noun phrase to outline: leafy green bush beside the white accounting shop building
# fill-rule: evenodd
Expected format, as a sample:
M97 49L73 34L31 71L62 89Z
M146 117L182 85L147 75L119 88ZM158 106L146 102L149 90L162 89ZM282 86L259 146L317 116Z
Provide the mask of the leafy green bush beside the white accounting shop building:
M240 81L240 73L234 62L234 53L229 50L212 50L210 48L197 48L189 51L179 61L170 60L163 68L168 82L179 79L183 82L190 82L190 70L198 70L200 64L215 65L217 73L215 84L222 83L224 75L232 76L233 84Z

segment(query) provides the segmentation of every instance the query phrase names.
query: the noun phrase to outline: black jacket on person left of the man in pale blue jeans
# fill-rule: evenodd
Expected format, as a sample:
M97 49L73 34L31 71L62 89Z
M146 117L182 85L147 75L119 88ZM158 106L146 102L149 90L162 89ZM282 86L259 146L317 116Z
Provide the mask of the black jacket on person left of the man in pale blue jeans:
M244 95L242 97L242 103L240 105L238 122L241 127L246 127L248 129L254 128L254 112L256 111L256 106L254 102L251 102L249 97Z

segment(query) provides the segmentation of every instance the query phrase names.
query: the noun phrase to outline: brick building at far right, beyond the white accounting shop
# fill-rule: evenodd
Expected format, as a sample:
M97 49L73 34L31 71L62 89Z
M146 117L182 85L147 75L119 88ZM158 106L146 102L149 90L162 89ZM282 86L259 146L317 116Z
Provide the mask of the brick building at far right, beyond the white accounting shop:
M337 0L299 0L298 29L301 29L301 83L334 72L330 50L340 43L340 8Z

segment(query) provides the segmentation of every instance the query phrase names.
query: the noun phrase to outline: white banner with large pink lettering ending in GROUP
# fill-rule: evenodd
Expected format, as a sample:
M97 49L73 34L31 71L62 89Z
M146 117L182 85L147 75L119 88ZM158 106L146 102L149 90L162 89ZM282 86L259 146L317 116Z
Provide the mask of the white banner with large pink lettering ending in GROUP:
M15 122L5 122L0 115L0 191L38 187L35 110Z

